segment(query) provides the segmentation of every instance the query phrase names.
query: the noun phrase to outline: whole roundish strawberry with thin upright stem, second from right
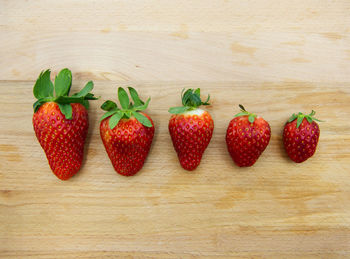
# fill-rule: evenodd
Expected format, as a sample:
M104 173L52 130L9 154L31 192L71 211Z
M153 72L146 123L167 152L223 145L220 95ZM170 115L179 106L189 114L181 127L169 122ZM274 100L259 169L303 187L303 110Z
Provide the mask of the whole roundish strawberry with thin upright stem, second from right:
M269 144L270 125L263 118L247 112L239 105L241 112L236 114L228 125L226 144L233 161L240 167L252 166Z

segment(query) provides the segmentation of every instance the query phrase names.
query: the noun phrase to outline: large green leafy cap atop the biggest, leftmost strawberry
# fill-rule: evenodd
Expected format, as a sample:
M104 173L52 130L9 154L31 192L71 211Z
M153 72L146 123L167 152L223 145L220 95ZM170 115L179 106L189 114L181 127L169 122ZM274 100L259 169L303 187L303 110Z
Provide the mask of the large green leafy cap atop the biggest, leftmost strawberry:
M35 82L33 94L38 100L33 104L34 112L46 102L55 102L64 114L64 117L70 120L72 119L71 103L81 103L88 109L89 100L98 99L94 94L90 93L94 88L92 81L89 81L80 92L68 96L72 86L72 72L68 68L62 69L57 74L54 84L51 82L50 74L50 69L42 71Z

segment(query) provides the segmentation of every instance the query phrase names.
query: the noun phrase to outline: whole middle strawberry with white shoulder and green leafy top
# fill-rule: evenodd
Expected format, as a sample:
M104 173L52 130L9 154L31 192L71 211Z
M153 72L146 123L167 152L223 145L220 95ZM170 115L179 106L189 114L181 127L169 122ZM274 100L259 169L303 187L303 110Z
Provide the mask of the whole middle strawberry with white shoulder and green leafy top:
M169 121L169 132L181 166L192 171L200 164L214 131L214 122L200 105L209 105L200 99L200 89L188 89L182 96L181 107L170 108L174 114Z

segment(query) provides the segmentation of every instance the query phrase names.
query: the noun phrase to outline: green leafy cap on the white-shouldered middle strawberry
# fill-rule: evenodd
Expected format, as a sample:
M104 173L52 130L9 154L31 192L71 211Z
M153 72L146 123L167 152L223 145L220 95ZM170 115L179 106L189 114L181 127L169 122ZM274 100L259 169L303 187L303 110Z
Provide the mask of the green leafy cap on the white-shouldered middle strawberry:
M201 105L209 105L208 101L210 99L210 95L208 94L208 98L205 102L202 102L200 95L201 90L199 88L197 88L196 90L188 89L186 91L185 89L183 89L181 92L183 106L172 107L169 109L169 112L172 114L180 114L186 111L195 110Z

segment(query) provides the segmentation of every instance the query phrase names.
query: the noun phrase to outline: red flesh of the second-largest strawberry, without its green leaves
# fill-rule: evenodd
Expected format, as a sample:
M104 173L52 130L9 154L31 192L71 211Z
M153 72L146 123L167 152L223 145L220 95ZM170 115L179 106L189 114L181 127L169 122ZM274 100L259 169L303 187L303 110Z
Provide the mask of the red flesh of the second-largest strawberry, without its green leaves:
M135 175L141 170L151 148L154 136L152 127L142 125L135 118L121 119L113 130L109 127L110 117L101 121L100 135L107 154L117 173L125 176Z

